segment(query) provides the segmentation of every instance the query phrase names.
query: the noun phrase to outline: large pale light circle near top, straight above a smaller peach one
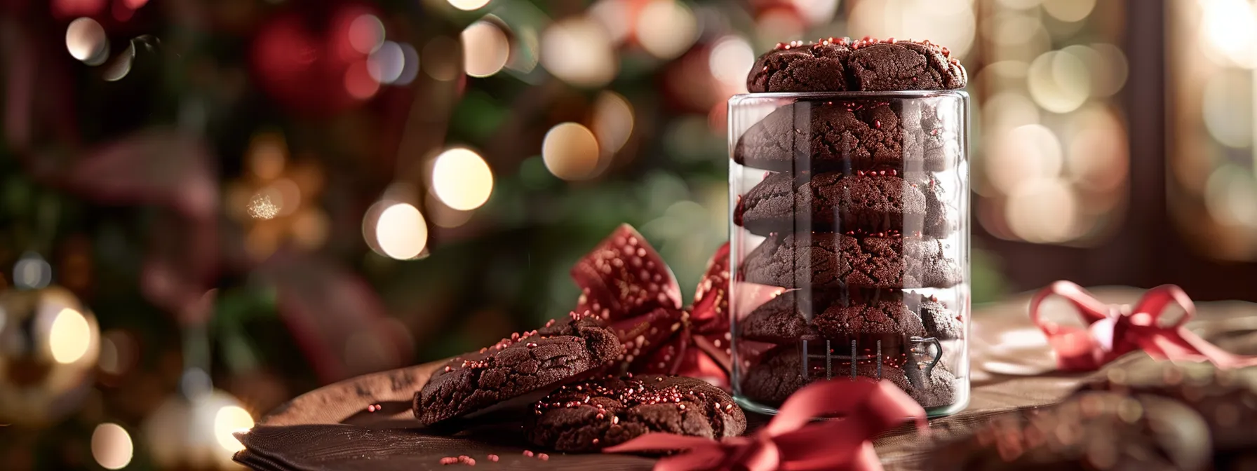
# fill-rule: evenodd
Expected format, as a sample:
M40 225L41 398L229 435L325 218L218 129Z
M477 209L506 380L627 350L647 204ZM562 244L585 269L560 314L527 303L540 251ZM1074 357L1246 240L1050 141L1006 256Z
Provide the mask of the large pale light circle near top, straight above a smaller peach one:
M581 87L611 82L618 67L607 31L579 16L557 21L542 33L541 63L554 77Z

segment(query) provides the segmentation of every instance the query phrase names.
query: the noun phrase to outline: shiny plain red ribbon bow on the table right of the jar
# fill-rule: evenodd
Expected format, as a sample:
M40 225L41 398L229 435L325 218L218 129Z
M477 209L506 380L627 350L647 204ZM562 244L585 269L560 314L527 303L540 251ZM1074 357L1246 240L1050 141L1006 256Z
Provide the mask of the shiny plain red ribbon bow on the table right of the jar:
M1079 308L1087 328L1060 325L1040 318L1047 296L1057 295ZM1160 318L1170 303L1183 306L1183 317L1170 325ZM1101 303L1070 281L1056 281L1029 301L1029 318L1047 335L1062 371L1096 371L1117 357L1144 350L1154 359L1213 362L1218 368L1257 365L1257 357L1237 355L1202 339L1183 327L1195 315L1192 298L1182 288L1161 285L1148 290L1134 309Z

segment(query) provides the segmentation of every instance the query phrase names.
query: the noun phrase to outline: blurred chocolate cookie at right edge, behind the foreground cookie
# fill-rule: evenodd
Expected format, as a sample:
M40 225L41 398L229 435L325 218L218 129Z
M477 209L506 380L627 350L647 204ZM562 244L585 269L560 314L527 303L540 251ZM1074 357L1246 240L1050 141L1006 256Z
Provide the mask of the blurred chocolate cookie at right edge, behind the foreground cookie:
M1140 359L1110 367L1106 379L1084 391L1156 394L1183 402L1209 427L1221 452L1257 450L1257 368L1218 369L1212 363L1172 364Z

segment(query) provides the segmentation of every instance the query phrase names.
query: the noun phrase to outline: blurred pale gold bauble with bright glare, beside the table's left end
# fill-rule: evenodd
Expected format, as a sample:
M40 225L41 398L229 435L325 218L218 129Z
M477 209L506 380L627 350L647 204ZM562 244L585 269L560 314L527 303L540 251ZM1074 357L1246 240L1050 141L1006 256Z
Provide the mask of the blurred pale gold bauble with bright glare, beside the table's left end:
M157 467L202 471L240 468L231 456L244 446L233 433L249 428L253 416L219 389L194 398L171 396L143 426Z

